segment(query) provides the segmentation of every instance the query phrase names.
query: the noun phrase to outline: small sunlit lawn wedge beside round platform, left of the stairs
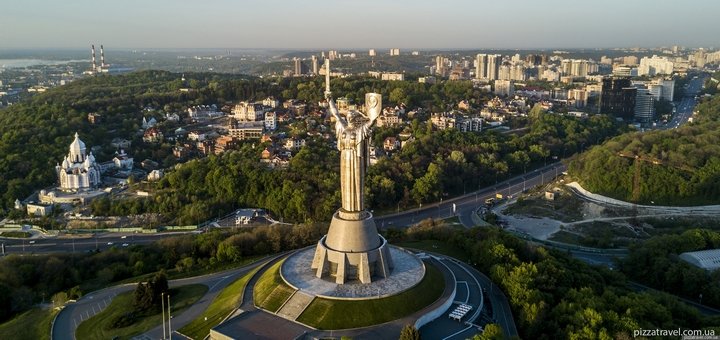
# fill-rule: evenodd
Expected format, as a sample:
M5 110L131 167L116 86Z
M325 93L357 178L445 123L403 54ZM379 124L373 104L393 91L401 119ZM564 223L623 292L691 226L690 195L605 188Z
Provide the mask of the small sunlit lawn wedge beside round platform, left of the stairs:
M273 313L277 312L285 303L285 300L295 291L280 277L280 266L282 266L283 262L284 260L279 261L268 268L260 276L253 290L255 305Z

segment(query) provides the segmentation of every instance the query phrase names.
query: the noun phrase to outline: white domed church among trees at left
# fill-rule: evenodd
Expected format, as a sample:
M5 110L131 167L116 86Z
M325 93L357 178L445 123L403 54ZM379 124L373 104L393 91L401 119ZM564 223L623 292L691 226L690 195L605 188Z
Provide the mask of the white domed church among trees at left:
M92 152L87 154L85 143L75 133L70 152L62 164L55 167L60 179L60 189L77 191L97 187L100 184L100 166Z

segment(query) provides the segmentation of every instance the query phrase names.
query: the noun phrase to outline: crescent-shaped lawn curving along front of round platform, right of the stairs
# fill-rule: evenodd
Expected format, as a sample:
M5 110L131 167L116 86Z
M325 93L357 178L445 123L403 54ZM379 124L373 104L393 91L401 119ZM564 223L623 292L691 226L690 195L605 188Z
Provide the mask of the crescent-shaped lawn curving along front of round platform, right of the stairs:
M435 302L445 289L442 273L432 265L426 268L417 286L395 296L361 301L315 298L297 321L318 329L347 329L410 315Z

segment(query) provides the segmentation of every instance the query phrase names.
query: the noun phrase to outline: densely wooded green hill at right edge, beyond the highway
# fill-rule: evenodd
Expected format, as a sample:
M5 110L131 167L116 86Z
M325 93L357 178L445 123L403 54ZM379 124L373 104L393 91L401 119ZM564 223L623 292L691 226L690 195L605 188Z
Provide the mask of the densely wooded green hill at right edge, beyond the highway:
M677 129L615 137L570 162L586 189L617 199L668 205L717 204L720 96L703 99Z

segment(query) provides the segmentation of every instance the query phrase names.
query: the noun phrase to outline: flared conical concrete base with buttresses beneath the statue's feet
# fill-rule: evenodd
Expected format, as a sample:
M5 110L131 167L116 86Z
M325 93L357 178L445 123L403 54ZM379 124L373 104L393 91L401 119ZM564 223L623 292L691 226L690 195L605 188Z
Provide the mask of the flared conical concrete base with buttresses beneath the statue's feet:
M358 280L372 282L373 277L387 278L394 265L387 241L377 233L372 214L362 212L361 219L344 219L347 213L333 216L328 234L315 248L311 268L318 278L332 277L335 283Z

